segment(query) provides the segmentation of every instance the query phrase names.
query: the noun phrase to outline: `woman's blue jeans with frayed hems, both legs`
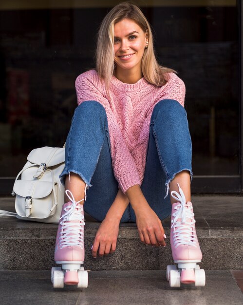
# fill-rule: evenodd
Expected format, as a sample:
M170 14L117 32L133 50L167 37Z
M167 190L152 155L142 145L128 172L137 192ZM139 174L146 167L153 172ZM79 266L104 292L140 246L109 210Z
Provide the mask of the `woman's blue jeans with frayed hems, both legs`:
M171 213L170 181L184 170L192 176L191 152L186 110L176 100L159 101L151 115L141 190L161 220ZM65 168L60 175L62 183L70 172L78 174L88 186L84 210L102 221L116 197L118 183L112 170L106 111L96 101L85 101L75 109L66 141ZM121 222L136 222L131 204Z

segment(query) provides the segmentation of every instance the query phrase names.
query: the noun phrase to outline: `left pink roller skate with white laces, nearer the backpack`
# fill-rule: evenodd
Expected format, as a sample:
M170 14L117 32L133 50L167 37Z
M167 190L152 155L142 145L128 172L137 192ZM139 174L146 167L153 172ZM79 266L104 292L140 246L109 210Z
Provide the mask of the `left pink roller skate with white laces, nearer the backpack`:
M71 191L66 195L70 199L62 207L56 234L55 261L62 267L52 267L54 288L66 285L88 286L88 272L81 267L84 262L84 212L81 201L75 201Z

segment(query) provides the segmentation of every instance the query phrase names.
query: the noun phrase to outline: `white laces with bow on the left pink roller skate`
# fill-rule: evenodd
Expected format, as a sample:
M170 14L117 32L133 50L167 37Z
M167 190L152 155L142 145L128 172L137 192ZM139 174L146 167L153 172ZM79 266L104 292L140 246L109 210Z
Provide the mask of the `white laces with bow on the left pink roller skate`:
M85 222L82 213L83 206L79 205L79 203L84 199L75 201L71 191L66 190L65 192L72 204L64 208L65 213L59 220L61 225L59 233L59 247L62 249L67 246L78 246L83 249ZM72 220L78 220L78 222L72 222Z

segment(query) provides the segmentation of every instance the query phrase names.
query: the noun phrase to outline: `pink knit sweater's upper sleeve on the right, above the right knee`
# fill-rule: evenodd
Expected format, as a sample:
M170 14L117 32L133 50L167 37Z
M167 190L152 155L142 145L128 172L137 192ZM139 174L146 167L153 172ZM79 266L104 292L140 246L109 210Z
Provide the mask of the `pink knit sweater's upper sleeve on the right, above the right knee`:
M183 107L185 103L186 86L184 81L174 73L169 73L169 80L161 92L160 98L177 100Z

